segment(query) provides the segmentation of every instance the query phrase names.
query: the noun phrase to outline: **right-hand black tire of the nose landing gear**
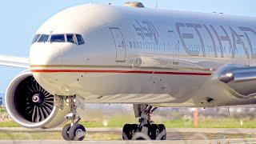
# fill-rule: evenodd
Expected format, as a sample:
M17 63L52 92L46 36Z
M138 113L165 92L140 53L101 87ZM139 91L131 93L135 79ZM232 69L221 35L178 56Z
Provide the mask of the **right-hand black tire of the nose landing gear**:
M80 124L75 124L70 127L69 136L74 141L82 141L86 137L86 129Z

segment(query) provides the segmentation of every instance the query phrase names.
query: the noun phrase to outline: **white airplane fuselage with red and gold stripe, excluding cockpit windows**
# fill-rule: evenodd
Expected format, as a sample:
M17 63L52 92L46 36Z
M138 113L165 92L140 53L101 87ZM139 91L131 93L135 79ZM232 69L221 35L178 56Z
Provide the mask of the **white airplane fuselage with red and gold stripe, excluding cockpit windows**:
M255 66L255 22L225 14L75 6L50 18L37 34L81 34L85 44L34 42L30 69L50 94L85 102L250 104L256 100L238 98L211 80L226 64Z

